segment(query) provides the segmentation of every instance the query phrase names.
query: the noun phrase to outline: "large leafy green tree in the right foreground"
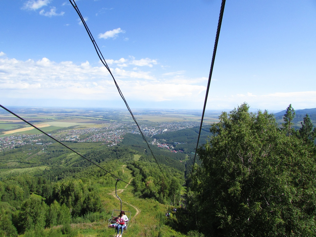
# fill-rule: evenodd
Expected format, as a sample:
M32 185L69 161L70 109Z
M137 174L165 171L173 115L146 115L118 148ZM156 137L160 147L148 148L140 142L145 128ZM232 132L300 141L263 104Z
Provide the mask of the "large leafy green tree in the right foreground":
M198 150L188 193L205 236L315 236L315 157L267 111L223 112Z

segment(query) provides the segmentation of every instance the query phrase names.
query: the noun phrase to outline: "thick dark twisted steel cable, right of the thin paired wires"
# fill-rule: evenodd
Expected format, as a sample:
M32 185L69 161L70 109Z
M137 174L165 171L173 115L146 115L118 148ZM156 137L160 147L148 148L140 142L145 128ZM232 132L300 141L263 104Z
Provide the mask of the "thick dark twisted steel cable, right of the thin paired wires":
M212 61L211 61L209 81L207 83L207 89L206 89L205 100L204 100L204 108L203 108L202 118L201 118L200 131L199 131L198 137L197 137L197 146L196 146L196 149L195 149L194 160L193 160L193 165L192 165L192 171L191 171L191 175L190 175L190 179L189 179L189 183L188 183L188 189L190 187L190 182L191 182L191 177L192 177L192 173L193 173L195 158L196 158L196 155L197 155L197 147L198 147L198 142L200 140L200 134L201 134L201 130L202 130L202 124L203 124L203 118L204 118L204 113L205 113L207 96L208 96L209 90L210 90L210 82L211 82L212 73L213 73L213 67L214 67L215 55L216 55L217 44L218 44L218 39L219 39L219 33L221 31L221 26L222 26L225 2L226 2L226 0L222 0L221 10L220 10L220 13L219 13L219 19L218 19L217 31L216 31L216 37L215 37L215 44L214 44L214 49L213 49Z

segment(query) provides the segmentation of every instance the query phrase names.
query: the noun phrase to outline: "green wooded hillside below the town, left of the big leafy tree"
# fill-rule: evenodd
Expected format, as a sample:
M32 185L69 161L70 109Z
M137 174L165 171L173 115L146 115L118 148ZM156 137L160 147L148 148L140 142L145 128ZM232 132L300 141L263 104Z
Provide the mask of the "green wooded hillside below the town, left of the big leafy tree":
M161 173L140 135L127 134L123 140L112 147L100 143L67 145L123 180L127 176L122 167L127 165L134 177L131 184L136 197L177 205L185 172L180 160L186 155L152 146ZM112 175L60 144L53 143L45 151L39 148L35 145L0 153L0 233L27 236L62 225L60 234L76 236L78 231L70 224L106 219L111 210L102 204L100 190L115 188Z

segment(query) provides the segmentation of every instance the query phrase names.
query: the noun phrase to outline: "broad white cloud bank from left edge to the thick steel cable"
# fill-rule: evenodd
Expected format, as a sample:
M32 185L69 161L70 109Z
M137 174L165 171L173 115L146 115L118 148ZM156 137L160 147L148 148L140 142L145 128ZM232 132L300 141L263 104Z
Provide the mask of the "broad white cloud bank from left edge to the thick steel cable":
M132 63L125 58L111 62ZM131 70L115 67L111 71L128 100L195 101L206 89L204 86L158 81L151 71L132 70L132 67ZM7 99L120 100L106 68L94 67L88 61L77 65L70 61L56 63L48 58L38 61L0 58L0 84L0 94Z

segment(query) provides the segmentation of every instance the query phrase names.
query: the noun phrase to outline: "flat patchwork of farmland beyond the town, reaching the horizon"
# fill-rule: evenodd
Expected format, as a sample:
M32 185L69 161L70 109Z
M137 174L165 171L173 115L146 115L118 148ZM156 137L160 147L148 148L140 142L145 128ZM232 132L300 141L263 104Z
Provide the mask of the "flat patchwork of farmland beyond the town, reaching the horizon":
M125 109L65 109L65 108L20 108L13 112L33 125L51 132L62 128L100 127L110 122L122 121L134 123L130 113ZM218 121L221 111L206 112L204 123ZM194 110L135 110L134 117L141 124L162 122L200 122L202 111ZM39 134L30 125L21 121L7 111L0 110L0 136L12 134Z

